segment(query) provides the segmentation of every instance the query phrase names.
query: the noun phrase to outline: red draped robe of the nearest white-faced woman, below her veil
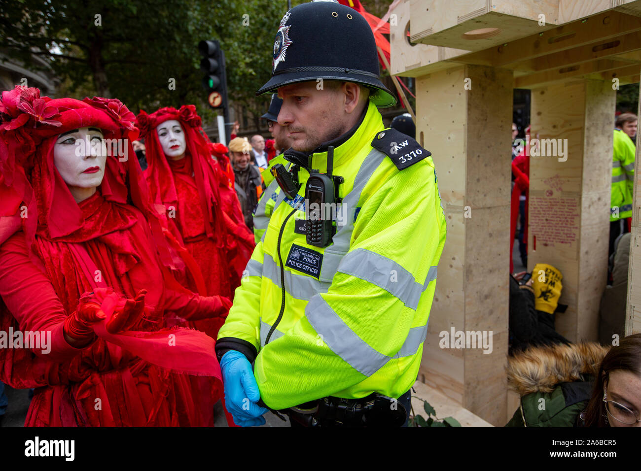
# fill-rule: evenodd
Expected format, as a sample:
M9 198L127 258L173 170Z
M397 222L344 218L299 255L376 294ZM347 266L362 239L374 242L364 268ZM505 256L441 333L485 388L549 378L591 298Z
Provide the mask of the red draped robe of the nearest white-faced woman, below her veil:
M190 317L211 309L211 299L172 282L149 250L153 239L137 208L98 192L79 206L85 217L79 232L55 240L38 232L42 267L29 258L23 232L0 247L0 296L13 314L0 316L0 329L51 331L49 354L0 350L0 379L13 388L37 388L25 426L212 426L213 397L221 388L213 378L167 372L101 339L79 350L63 338L62 321L95 286L88 279L94 267L83 267L78 246L116 291L133 297L149 290L149 318L132 330L181 324L172 311Z

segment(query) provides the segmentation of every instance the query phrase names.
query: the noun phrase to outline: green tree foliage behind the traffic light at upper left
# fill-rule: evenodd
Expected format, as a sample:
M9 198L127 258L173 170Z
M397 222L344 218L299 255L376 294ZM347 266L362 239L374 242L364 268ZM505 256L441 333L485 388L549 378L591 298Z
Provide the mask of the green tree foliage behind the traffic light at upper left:
M0 3L0 47L30 67L31 54L48 59L60 94L117 97L133 112L195 103L209 120L198 42L221 42L229 99L262 113L269 97L254 92L286 10L285 0L14 0Z

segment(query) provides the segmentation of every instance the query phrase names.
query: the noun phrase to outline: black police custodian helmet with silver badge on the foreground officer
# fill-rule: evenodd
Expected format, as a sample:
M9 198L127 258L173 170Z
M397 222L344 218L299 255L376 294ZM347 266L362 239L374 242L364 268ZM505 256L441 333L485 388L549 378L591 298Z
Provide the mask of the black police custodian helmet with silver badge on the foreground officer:
M334 1L304 3L285 13L274 39L272 67L272 78L256 95L322 78L364 85L376 106L396 103L379 79L376 42L367 20Z

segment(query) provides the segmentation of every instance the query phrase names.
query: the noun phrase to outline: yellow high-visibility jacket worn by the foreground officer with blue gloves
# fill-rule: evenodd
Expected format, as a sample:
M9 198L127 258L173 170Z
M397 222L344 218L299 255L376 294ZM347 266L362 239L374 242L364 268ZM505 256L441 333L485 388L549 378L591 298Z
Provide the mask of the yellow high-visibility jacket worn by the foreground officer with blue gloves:
M432 159L397 169L372 147L384 129L370 103L360 126L335 147L343 212L328 247L308 245L295 232L305 217L306 170L294 199L275 183L265 192L276 193L274 208L216 349L219 357L235 349L254 362L272 409L328 395L398 398L416 380L446 224ZM326 160L326 151L313 153L312 168L326 169Z

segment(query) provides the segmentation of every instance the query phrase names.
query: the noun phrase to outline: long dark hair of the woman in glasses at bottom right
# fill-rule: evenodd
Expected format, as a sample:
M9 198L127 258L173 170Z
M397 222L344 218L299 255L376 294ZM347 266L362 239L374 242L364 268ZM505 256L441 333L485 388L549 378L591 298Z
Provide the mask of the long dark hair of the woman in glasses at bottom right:
M615 370L629 371L641 377L641 333L622 338L620 345L612 347L601 361L592 397L585 411L581 412L585 427L608 427L603 386L610 372Z

